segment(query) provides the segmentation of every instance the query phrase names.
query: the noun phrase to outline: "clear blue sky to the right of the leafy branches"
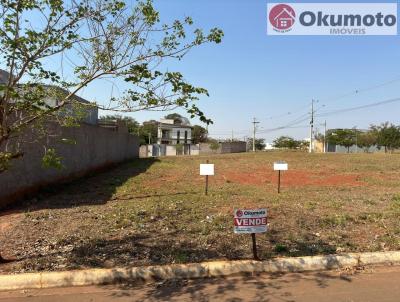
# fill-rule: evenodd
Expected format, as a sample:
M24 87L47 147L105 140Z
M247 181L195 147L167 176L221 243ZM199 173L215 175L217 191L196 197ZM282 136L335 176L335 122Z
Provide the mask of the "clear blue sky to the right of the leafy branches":
M228 138L232 130L235 138L250 135L256 117L258 136L267 142L280 135L303 139L309 135L308 121L295 125L301 128L266 129L304 116L311 99L319 100L316 108L323 112L400 97L399 36L267 36L267 2L259 0L158 0L155 6L164 20L191 16L198 27L219 27L225 33L221 44L200 46L182 62L168 64L209 90L210 97L198 105L214 120L209 127L214 137ZM356 90L360 92L337 98ZM97 101L104 95L99 87L85 91ZM327 116L326 121L328 128L400 124L399 112L400 102L395 102ZM165 113L130 115L142 122ZM324 120L317 117L317 127L322 129Z

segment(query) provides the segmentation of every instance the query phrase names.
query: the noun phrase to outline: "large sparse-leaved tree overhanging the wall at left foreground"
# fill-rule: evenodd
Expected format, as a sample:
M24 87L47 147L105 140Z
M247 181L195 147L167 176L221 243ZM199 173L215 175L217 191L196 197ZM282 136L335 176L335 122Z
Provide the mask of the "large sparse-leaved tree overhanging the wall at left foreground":
M165 66L160 63L181 60L199 45L220 43L220 29L189 34L190 17L161 24L151 0L133 6L123 0L9 0L0 3L0 16L0 64L10 75L0 87L0 172L26 152L19 149L25 129L50 120L76 125L76 114L64 114L71 107L82 112L90 106L114 112L182 107L212 123L194 103L207 90L188 83L180 72L160 70ZM77 97L102 79L121 88L113 89L121 93L108 105Z

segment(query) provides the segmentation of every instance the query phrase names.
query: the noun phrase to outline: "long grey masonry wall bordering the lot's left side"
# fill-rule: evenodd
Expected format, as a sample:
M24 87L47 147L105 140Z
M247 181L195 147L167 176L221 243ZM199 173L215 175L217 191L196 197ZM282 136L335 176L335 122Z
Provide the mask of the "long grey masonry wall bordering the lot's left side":
M13 161L12 167L0 173L0 206L4 206L41 187L85 175L97 169L139 156L139 139L126 128L112 131L95 125L60 127L47 125L45 138L33 138L31 129L25 133L21 148L24 156ZM54 148L62 158L63 168L44 168L42 157L47 148Z

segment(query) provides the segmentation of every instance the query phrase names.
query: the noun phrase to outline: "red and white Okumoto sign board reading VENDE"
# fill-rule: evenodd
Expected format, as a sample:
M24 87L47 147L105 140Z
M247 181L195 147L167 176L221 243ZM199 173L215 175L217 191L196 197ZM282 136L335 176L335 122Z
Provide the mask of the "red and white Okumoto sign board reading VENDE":
M267 209L235 209L236 234L264 233L267 231Z

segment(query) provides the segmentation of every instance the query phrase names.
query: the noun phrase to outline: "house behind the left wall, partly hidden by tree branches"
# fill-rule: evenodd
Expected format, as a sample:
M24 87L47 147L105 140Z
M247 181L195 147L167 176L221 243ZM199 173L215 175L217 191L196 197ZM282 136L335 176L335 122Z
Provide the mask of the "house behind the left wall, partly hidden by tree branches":
M9 77L10 74L7 71L0 69L0 85L6 85ZM69 91L67 91L66 89L54 85L42 85L42 86L46 89L46 94L48 94L46 99L43 100L45 104L43 105L43 107L46 106L52 108L57 106L60 103L60 100L58 100L57 96L64 97L69 93ZM24 84L19 84L18 89L21 89L21 91L23 90L28 91L29 88L26 88L26 85ZM77 95L73 97L73 100L76 101L76 105L66 104L61 110L57 112L57 114L59 116L74 115L76 117L79 117L79 119L82 122L91 125L97 125L98 122L97 106Z

